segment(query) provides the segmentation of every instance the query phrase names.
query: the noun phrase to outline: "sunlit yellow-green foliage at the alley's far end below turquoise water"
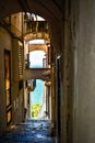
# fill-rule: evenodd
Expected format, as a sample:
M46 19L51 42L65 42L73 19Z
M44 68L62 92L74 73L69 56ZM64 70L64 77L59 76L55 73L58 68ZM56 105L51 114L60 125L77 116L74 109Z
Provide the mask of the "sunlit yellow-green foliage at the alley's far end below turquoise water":
M38 112L40 111L41 105L40 103L33 103L32 105L32 118L37 118Z

